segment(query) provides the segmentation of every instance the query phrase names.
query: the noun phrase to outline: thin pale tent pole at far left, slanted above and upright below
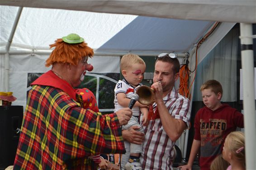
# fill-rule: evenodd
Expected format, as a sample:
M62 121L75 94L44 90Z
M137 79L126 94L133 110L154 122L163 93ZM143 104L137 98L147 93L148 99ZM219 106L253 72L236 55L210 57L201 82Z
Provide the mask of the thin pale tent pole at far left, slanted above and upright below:
M11 43L12 43L12 40L14 37L15 30L16 30L18 22L19 22L19 18L20 18L22 9L23 9L23 7L18 8L18 12L15 17L11 33L10 33L9 39L8 39L6 47L5 47L5 52L6 52L5 53L5 91L6 92L9 91L9 50L10 50L10 46L11 46Z

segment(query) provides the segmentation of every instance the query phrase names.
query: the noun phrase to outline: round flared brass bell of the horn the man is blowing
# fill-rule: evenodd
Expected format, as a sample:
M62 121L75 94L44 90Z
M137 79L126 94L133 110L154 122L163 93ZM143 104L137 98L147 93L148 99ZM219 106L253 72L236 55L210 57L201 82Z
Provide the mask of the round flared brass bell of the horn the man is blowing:
M142 105L150 105L155 101L155 89L147 86L140 86L136 89L139 96L138 102Z

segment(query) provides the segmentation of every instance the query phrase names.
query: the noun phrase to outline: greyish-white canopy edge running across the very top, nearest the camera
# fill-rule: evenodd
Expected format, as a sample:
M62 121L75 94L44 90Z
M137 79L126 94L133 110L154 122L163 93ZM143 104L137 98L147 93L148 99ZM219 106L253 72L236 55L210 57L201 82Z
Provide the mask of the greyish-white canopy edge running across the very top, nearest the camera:
M1 5L256 23L255 0L1 0Z

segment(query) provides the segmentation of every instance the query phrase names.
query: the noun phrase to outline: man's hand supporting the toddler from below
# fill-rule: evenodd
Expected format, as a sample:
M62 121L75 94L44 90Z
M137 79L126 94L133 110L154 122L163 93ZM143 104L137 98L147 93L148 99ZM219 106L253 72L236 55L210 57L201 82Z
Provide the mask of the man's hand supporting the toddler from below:
M145 139L145 135L142 132L136 131L137 129L140 129L140 127L132 126L128 130L123 130L122 131L123 139L137 145L142 144Z

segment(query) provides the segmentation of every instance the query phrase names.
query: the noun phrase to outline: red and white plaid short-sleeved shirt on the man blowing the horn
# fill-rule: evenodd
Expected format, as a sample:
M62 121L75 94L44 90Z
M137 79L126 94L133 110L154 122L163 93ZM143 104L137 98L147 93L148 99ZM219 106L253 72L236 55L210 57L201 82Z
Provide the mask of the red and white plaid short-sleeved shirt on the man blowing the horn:
M173 88L172 91L163 98L163 101L172 117L183 120L189 127L189 99L181 96L176 92L175 88ZM153 104L153 110L155 112L156 103ZM144 170L172 170L174 145L175 141L171 141L167 136L161 124L161 119L149 120L149 124L145 128L145 141L143 142L140 157L142 168Z

